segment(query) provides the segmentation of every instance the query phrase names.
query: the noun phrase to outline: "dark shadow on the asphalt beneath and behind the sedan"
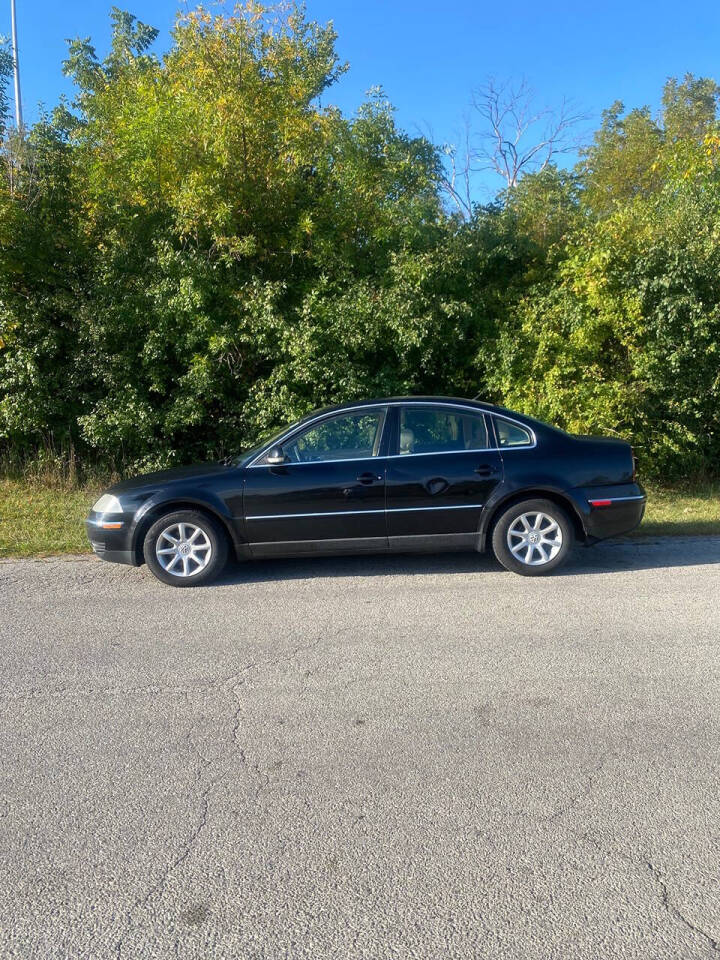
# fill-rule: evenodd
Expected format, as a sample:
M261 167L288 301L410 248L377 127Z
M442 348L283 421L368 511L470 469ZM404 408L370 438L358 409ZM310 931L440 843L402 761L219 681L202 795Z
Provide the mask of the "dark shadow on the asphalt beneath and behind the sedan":
M578 547L554 576L588 576L720 563L720 537L647 537ZM232 563L217 585L332 577L454 576L506 573L492 553L309 556Z

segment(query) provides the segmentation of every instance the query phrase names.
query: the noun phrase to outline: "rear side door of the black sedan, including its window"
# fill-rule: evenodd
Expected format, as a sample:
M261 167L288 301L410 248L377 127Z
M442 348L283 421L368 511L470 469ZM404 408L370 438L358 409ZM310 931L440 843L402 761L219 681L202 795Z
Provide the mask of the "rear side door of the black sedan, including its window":
M408 403L395 414L388 458L390 549L473 547L502 480L488 417L472 407Z

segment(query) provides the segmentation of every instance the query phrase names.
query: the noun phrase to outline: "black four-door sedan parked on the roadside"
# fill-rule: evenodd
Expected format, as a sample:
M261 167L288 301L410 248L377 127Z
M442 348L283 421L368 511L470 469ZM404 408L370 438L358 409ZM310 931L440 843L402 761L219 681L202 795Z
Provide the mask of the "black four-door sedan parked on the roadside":
M572 436L473 400L393 398L310 414L230 462L111 487L95 553L165 583L207 583L228 554L487 550L556 570L576 542L627 533L645 494L623 440Z

